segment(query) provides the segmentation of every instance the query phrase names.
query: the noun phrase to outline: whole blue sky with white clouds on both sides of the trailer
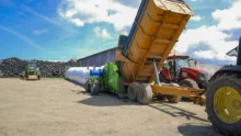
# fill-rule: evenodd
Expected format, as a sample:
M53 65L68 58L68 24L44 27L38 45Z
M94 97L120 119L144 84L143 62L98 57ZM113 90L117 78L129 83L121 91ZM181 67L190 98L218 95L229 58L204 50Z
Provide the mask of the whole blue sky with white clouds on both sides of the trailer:
M185 0L194 11L174 49L225 65L241 36L241 0ZM140 0L0 0L0 59L69 60L117 46Z

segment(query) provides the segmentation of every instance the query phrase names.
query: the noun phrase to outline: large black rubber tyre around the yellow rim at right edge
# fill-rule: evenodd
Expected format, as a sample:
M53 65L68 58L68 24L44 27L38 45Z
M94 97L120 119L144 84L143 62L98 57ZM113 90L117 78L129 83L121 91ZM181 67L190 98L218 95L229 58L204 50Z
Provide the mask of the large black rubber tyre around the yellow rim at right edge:
M213 123L215 131L225 135L241 135L241 120L236 123L226 123L216 114L214 107L214 99L218 90L222 87L230 87L238 91L241 95L241 77L238 75L222 75L214 79L207 88L206 92L206 112L209 121ZM225 95L227 95L225 93ZM238 99L238 102L241 103ZM241 111L241 104L238 104L238 110Z

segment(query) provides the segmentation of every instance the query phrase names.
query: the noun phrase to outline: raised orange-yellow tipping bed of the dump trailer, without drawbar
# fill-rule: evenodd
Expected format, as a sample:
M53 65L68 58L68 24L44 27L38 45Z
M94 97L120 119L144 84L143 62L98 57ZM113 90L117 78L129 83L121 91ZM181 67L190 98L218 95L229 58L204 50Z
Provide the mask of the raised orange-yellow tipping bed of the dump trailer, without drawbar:
M160 69L193 14L181 0L147 0L141 4L129 43L122 50L133 61L122 64L126 82L153 81L152 59Z

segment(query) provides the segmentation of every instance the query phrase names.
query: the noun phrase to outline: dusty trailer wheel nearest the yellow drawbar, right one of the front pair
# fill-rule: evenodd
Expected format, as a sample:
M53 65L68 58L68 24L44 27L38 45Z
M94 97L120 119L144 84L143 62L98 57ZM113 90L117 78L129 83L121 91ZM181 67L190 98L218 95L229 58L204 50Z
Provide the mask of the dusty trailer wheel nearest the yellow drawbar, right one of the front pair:
M137 100L141 104L149 104L152 100L152 89L149 84L142 83L137 92Z

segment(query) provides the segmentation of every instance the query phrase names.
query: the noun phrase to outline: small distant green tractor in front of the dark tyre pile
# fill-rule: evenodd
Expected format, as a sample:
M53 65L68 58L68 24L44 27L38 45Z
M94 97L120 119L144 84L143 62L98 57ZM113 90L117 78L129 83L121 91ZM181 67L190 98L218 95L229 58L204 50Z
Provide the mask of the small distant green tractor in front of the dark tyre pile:
M36 66L36 61L28 61L22 78L26 80L41 80L41 70Z

